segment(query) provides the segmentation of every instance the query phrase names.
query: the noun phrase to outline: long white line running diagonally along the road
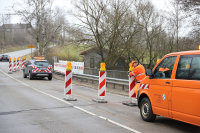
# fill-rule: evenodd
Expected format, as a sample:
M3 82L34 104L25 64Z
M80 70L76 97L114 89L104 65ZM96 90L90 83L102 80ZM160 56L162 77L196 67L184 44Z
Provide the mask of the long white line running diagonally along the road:
M29 88L31 88L31 89L33 89L33 90L39 92L39 93L42 93L42 94L44 94L44 95L47 95L47 96L49 96L49 97L51 97L51 98L54 98L54 99L56 99L56 100L58 100L58 101L60 101L60 102L64 102L64 103L66 103L66 104L68 104L68 105L72 105L72 107L75 108L75 109L78 109L78 110L80 110L80 111L83 111L83 112L85 112L85 113L87 113L87 114L90 114L90 115L92 115L92 116L97 116L97 117L100 118L100 119L103 119L103 120L105 120L105 121L108 121L108 122L110 122L110 123L112 123L112 124L114 124L114 125L116 125L116 126L122 127L122 128L127 129L127 130L129 130L129 131L131 131L131 132L134 132L134 133L141 133L141 132L139 132L139 131L137 131L137 130L135 130L135 129L133 129L133 128L127 127L127 126L125 126L125 125L122 125L122 124L120 124L120 123L118 123L118 122L115 122L115 121L113 121L113 120L111 120L111 119L108 119L108 118L103 117L103 116L99 116L99 115L97 115L97 114L94 114L94 113L92 113L92 112L90 112L90 111L87 111L87 110L85 110L85 109L83 109L83 108L80 108L80 107L78 107L78 106L74 106L74 105L73 105L72 103L70 103L70 102L67 102L67 101L65 101L65 100L63 100L63 99L57 98L57 97L55 97L55 96L53 96L53 95L50 95L50 94L48 94L48 93L45 93L45 92L39 90L39 89L36 89L36 88L34 88L34 87L31 87L30 85L28 85L28 84L26 84L26 83L24 83L24 82L22 82L22 81L20 81L20 80L18 80L18 79L16 79L16 78L10 76L9 74L5 73L5 72L2 71L1 69L0 69L0 71L1 71L3 74L7 75L8 77L12 78L13 80L15 80L15 81L17 81L17 82L23 84L24 86L27 86L27 87L29 87Z

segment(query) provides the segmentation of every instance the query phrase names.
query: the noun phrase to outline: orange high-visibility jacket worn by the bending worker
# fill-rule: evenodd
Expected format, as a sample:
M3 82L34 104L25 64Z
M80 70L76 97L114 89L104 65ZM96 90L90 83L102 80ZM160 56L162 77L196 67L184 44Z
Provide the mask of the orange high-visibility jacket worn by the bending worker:
M135 77L136 82L140 82L146 77L145 68L141 64L135 67L131 73Z

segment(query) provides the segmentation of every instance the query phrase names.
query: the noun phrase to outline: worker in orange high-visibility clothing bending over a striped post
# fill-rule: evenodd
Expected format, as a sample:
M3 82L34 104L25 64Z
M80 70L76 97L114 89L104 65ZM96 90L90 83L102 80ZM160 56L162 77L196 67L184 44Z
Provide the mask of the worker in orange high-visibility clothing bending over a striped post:
M135 81L136 81L137 84L134 87L134 91L135 91L136 96L137 96L137 92L138 92L138 89L139 89L139 86L140 86L140 82L146 77L145 68L144 68L143 65L139 64L136 61L132 61L131 65L133 67L133 70L129 72L129 76L135 77Z

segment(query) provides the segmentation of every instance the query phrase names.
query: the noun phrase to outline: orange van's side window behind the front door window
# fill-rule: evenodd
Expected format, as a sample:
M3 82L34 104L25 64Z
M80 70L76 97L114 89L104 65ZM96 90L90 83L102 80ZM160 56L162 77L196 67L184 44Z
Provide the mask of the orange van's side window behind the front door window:
M200 80L200 55L181 56L176 79Z

